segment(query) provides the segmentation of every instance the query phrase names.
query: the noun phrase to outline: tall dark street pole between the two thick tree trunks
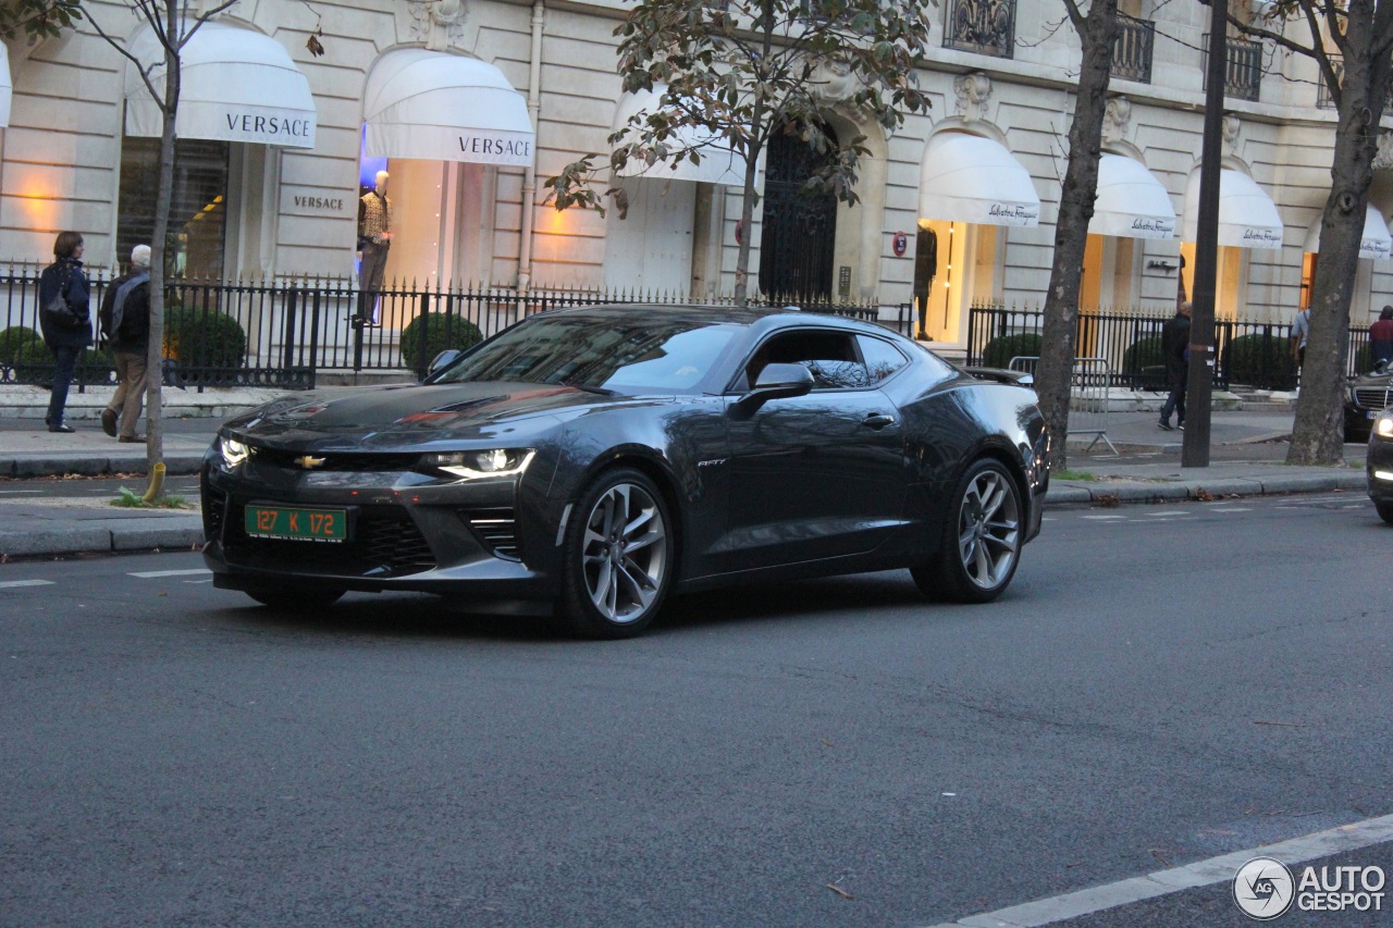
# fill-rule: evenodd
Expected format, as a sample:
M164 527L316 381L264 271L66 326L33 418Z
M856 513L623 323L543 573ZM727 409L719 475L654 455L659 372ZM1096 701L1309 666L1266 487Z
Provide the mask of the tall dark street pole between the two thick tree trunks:
M1199 156L1199 220L1191 287L1190 372L1185 379L1185 440L1181 467L1209 467L1209 405L1215 376L1215 290L1219 277L1219 183L1223 92L1229 78L1229 3L1209 1L1209 67L1205 75L1205 137Z

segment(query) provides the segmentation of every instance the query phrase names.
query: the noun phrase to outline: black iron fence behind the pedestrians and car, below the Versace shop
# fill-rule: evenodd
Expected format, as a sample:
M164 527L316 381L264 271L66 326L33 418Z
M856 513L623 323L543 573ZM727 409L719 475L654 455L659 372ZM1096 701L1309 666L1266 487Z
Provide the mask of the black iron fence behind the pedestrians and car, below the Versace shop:
M43 383L53 358L39 337L40 268L0 273L0 382ZM111 274L92 274L100 305ZM422 376L446 348L465 348L527 316L561 307L610 302L729 305L730 297L508 287L389 287L361 291L348 280L196 281L166 288L166 380L181 386L313 387L327 371L390 371ZM752 304L784 305L779 298ZM811 312L880 320L876 301L808 302ZM93 318L96 314L92 314ZM886 320L907 330L905 316ZM103 343L84 353L77 382L109 383Z

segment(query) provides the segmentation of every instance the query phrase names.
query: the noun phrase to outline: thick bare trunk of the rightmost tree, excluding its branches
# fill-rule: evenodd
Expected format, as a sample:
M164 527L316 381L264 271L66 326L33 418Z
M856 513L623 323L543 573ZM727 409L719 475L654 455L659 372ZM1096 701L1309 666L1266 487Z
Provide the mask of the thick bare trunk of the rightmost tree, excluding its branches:
M1393 72L1387 52L1375 57L1373 49L1390 29L1393 17L1385 14L1375 22L1372 0L1350 3L1330 195L1321 222L1321 261L1311 288L1311 332L1289 464L1339 464L1344 456L1350 298L1373 180L1379 120Z

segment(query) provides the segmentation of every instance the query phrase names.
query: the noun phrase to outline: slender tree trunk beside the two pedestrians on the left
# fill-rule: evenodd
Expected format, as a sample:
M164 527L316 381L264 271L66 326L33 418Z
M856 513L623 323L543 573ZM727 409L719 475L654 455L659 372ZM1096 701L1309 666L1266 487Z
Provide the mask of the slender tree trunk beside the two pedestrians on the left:
M166 0L166 35L178 40L178 0ZM150 346L145 354L149 372L145 386L145 461L153 478L155 465L164 460L164 240L169 233L170 202L174 199L174 118L178 114L180 59L174 47L164 49L164 125L160 134L159 188L155 195L155 231L150 242Z

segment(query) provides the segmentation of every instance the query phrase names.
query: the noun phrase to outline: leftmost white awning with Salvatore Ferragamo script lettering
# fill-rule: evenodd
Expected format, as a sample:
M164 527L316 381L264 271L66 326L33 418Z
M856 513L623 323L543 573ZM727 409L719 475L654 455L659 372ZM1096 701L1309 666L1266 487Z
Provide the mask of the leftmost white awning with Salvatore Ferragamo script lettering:
M1034 226L1041 198L1029 173L989 138L939 132L924 146L919 219Z

